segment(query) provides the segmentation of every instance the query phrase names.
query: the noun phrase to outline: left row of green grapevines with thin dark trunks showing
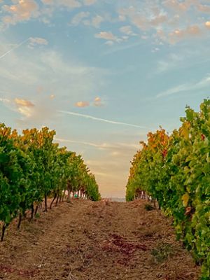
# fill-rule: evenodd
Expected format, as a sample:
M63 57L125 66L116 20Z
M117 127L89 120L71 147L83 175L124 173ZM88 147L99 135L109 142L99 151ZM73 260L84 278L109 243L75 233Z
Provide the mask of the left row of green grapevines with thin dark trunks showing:
M47 199L52 203L69 200L77 195L99 200L99 188L94 175L80 155L53 142L54 130L43 127L24 130L21 135L0 123L0 224L3 235L14 218L19 216L18 228L26 211L31 219L39 205Z

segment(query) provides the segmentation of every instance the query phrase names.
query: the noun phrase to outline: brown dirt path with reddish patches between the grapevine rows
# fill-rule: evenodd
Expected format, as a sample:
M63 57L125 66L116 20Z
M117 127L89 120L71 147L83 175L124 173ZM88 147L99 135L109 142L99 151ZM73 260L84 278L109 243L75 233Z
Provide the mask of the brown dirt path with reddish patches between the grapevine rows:
M0 244L0 279L197 280L169 219L146 202L63 203Z

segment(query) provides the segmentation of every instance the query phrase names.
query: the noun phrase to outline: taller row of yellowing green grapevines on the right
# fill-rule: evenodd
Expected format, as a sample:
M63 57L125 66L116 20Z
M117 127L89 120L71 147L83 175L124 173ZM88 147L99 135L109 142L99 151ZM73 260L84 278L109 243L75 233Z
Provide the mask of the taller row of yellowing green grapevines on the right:
M144 190L173 216L176 233L210 279L210 100L200 112L186 108L182 125L171 135L160 127L134 155L127 201Z

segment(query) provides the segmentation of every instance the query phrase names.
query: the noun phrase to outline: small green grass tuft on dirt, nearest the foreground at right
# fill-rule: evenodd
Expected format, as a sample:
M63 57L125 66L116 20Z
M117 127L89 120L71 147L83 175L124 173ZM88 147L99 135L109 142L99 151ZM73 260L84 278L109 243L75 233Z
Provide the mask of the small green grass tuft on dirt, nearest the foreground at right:
M164 262L167 258L174 255L175 248L169 243L160 243L156 248L151 251L153 258L156 262Z

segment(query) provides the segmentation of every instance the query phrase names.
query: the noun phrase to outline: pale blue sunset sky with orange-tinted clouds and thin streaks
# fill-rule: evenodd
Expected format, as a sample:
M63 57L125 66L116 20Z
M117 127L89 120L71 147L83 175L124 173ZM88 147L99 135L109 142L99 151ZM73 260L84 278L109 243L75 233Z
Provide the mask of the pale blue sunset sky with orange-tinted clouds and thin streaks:
M209 0L0 0L0 123L56 130L124 197L139 141L209 97L209 45Z

